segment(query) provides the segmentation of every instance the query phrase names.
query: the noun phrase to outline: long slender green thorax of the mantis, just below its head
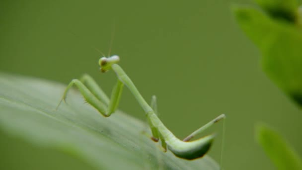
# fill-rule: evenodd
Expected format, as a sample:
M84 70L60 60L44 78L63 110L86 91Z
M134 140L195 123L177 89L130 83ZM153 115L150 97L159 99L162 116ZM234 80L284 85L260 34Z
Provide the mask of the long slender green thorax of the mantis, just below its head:
M154 112L149 106L149 104L146 102L146 100L143 98L139 90L133 84L131 79L126 75L124 70L117 64L113 64L112 69L117 74L118 79L130 89L130 91L133 93L141 107L144 109L145 113L147 114L148 112Z

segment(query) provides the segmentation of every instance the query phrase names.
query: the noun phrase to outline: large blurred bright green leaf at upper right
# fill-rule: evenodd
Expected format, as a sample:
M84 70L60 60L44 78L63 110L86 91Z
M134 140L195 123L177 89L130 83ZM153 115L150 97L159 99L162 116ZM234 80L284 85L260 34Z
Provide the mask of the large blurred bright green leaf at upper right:
M247 6L233 8L237 22L262 53L264 72L302 106L302 32Z

